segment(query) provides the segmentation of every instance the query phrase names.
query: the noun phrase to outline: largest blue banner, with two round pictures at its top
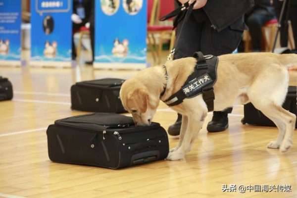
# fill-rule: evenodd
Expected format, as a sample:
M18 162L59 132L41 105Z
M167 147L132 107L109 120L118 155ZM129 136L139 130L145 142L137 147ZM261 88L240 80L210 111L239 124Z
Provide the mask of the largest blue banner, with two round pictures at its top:
M146 67L147 0L96 0L95 6L94 67Z

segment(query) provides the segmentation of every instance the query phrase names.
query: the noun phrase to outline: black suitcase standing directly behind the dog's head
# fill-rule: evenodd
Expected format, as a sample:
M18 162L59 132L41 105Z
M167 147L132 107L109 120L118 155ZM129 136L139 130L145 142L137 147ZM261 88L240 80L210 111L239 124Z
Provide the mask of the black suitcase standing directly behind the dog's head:
M77 82L71 86L71 109L89 112L127 112L120 100L125 80L104 78Z

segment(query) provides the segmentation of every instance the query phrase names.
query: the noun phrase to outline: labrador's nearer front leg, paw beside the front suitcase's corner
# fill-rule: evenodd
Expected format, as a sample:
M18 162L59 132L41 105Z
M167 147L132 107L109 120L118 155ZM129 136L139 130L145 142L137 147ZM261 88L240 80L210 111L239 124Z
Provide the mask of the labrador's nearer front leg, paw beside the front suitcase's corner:
M199 119L196 119L195 116L188 117L188 127L182 138L180 138L178 147L169 152L166 157L167 160L180 160L185 157L186 152L191 150L203 122L204 120L200 119L200 117Z

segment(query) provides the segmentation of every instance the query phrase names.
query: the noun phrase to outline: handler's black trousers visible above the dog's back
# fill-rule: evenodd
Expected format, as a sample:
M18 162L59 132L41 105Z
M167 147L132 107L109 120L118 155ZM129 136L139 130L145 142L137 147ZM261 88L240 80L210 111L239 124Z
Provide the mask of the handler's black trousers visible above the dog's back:
M242 21L239 19L232 27L217 32L208 19L198 22L191 14L184 25L183 20L178 23L174 59L192 56L196 51L215 56L232 53L243 36Z

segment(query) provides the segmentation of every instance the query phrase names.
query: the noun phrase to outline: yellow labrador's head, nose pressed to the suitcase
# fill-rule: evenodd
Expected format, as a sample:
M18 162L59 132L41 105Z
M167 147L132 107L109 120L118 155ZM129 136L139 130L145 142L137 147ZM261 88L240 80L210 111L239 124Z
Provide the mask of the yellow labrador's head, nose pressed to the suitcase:
M121 86L120 99L124 108L132 114L136 126L151 124L159 104L159 98L153 95L141 81L129 79Z

